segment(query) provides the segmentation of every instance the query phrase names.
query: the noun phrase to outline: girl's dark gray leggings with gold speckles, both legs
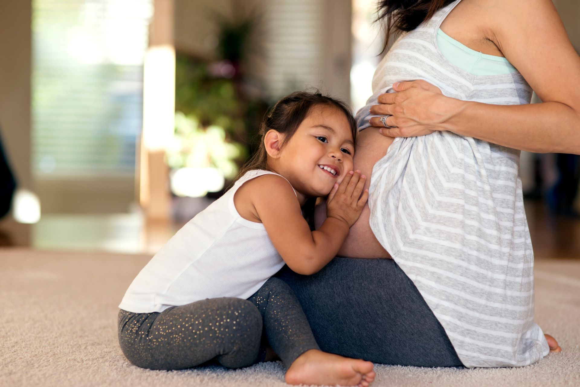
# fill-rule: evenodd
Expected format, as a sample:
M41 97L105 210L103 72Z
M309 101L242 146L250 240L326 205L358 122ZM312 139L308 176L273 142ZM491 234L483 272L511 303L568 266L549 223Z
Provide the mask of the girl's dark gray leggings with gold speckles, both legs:
M300 303L284 281L271 278L248 300L213 298L161 313L119 310L119 345L136 366L181 370L217 360L229 368L264 359L265 334L286 367L318 349Z

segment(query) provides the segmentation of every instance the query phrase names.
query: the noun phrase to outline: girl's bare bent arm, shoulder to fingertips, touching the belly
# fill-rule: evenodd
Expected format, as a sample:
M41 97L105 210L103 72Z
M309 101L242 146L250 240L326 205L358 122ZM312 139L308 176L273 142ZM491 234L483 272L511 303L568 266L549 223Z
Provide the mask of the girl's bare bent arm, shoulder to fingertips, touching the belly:
M328 195L328 218L311 232L292 186L281 176L256 178L252 204L278 254L298 274L314 274L338 252L367 202L365 178L347 173ZM362 196L361 196L362 193Z

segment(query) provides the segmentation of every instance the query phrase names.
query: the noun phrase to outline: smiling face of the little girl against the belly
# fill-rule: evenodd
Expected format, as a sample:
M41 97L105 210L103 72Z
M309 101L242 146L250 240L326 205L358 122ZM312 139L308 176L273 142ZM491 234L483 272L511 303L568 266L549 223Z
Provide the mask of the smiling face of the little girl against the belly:
M336 107L315 106L282 147L277 169L305 198L326 196L353 169L353 156L345 114Z

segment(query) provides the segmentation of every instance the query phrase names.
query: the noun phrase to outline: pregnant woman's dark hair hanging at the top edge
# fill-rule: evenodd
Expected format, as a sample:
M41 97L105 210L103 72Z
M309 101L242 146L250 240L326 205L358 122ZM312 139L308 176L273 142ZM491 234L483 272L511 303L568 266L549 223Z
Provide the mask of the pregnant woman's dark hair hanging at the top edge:
M377 3L376 19L381 21L386 32L385 46L387 49L389 38L401 32L412 31L429 21L435 12L455 0L379 0Z

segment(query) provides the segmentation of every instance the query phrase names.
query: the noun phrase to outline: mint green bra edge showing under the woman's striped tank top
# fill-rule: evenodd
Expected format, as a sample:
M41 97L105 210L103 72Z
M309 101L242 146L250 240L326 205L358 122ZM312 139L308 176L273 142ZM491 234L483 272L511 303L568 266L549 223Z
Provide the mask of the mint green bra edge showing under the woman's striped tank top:
M499 75L517 71L504 57L472 50L449 37L441 28L437 31L437 45L445 59L473 75Z

